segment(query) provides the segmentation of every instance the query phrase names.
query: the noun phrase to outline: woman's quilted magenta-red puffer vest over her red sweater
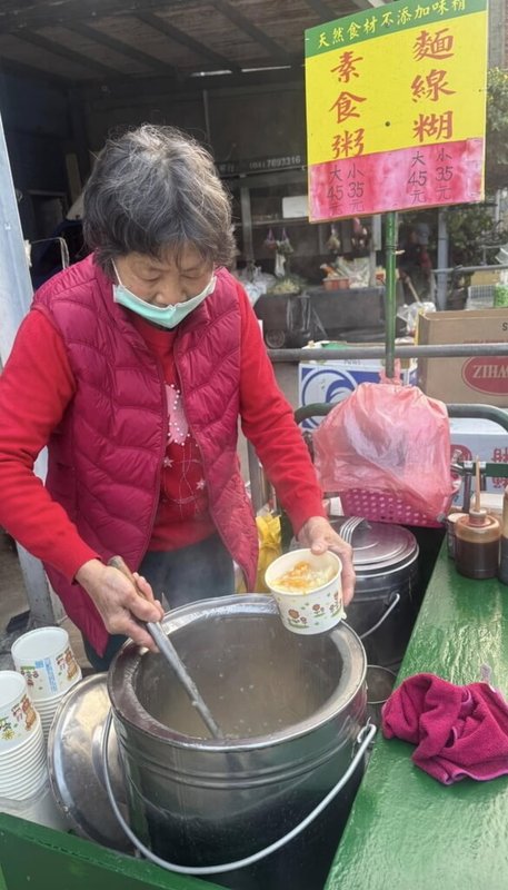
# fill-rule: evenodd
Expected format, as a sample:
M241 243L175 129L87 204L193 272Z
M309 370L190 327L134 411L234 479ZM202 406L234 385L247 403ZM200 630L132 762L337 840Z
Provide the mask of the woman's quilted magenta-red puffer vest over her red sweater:
M120 553L135 571L150 542L166 453L160 363L92 257L43 285L33 308L61 334L77 387L48 445L47 488L104 561ZM252 587L258 538L237 457L240 324L235 280L220 269L213 294L178 327L175 362L213 522ZM69 617L102 653L108 633L88 594L46 571Z

